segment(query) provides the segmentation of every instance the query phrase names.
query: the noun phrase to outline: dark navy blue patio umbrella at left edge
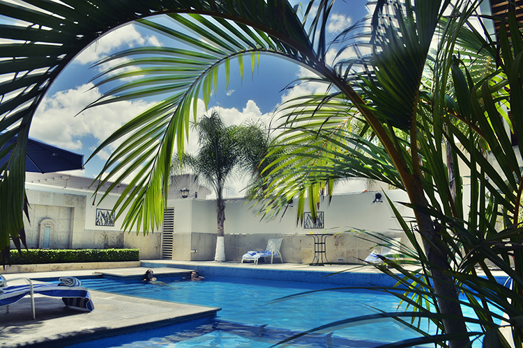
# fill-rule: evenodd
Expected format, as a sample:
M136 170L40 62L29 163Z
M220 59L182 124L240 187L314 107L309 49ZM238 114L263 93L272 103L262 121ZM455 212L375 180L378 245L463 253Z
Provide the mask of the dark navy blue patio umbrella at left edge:
M4 147L16 143L14 136ZM1 148L0 148L1 150ZM11 151L0 159L0 167L9 160ZM29 138L25 170L33 173L53 173L58 171L72 171L84 168L84 155L63 150L56 146Z

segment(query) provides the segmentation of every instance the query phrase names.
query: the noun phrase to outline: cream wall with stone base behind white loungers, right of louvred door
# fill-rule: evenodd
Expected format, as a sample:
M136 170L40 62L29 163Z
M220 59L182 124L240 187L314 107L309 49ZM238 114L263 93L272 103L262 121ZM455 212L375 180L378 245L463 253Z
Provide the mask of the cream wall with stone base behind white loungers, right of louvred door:
M243 199L227 200L225 257L239 261L246 251L264 250L269 238L283 238L281 251L285 262L309 263L314 258L314 243L308 234L327 232L335 234L326 239L329 261L338 262L339 258L340 262L361 263L376 243L359 238L362 235L356 232L366 230L388 237L402 236L388 203L372 203L375 193L334 196L330 205L324 201L318 210L324 212L325 228L319 230L296 226L294 207L283 217L261 219L252 203ZM408 199L402 191L386 194L395 202ZM169 207L175 211L173 260L214 259L215 204L215 200L169 200ZM409 209L403 205L395 203L395 206L402 214L408 214Z

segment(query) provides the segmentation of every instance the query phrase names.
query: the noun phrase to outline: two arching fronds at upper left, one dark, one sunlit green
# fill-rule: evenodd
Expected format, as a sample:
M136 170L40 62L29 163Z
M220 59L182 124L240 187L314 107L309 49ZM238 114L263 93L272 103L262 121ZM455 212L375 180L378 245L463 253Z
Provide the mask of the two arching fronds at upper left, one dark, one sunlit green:
M301 55L299 50L312 47L294 9L283 0L270 3L259 0L1 1L0 13L6 19L0 24L0 56L3 59L0 76L5 81L0 84L0 148L14 134L18 135L13 155L9 159L10 171L6 171L7 166L0 168L0 251L4 260L8 255L10 237L13 240L22 237L21 242L24 242L22 214L26 143L34 112L60 72L101 35L116 26L138 20L139 25L169 38L189 42L197 49L193 52L167 49L160 52L162 59L156 63L142 60L146 65L151 63L149 68L152 68L132 70L127 77L171 75L168 79L151 80L149 76L149 80L133 81L112 90L112 95L105 95L91 105L173 92L165 101L128 122L98 149L123 140L123 145L112 154L104 168L104 171L109 168L112 171L103 177L102 184L107 180L125 181L135 168L143 166L139 175L130 178L128 190L121 195L115 207L116 216L130 208L124 228L134 226L143 232L157 230L160 226L174 146L180 153L183 152L189 120L191 117L196 118L193 112L196 112L197 99L202 95L202 99L209 101L211 86L216 86L218 67L225 66L228 79L231 58L238 58L238 65L243 72L241 58L245 54L252 57L250 61L254 69L255 58L259 58L258 51L308 61L309 57ZM204 36L204 40L146 19L169 13L174 22L179 22L191 31L194 29ZM215 16L214 21L202 16L211 14ZM238 25L233 26L229 22L231 20ZM274 31L266 33L255 29L253 25L273 28ZM292 44L278 38L284 33L291 38ZM162 51L158 47L139 48L137 51L147 54L155 52L155 49ZM121 56L132 54L123 52ZM114 58L118 57L107 59ZM183 63L185 68L179 69L177 63ZM113 79L124 77L125 74L116 74ZM160 85L149 86L153 82ZM8 150L1 150L0 157L5 157ZM119 172L123 167L128 170Z

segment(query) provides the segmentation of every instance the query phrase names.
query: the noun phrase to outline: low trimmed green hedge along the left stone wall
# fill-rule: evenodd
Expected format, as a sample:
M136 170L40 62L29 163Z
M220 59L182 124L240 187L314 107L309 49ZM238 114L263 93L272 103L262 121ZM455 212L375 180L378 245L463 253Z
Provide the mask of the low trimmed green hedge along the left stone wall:
M10 264L139 261L138 249L11 250Z

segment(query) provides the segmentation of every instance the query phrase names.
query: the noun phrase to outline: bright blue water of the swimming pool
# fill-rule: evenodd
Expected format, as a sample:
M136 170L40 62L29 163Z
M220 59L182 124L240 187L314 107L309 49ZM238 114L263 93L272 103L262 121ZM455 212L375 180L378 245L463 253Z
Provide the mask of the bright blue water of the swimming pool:
M272 302L282 296L333 285L206 277L201 281L161 279L149 284L140 280L112 278L83 279L84 286L151 299L217 306L215 319L168 326L167 328L107 338L73 345L88 347L270 347L294 333L314 327L376 313L393 312L395 297L363 290L329 290L287 301ZM391 319L308 336L291 347L376 347L416 337L416 333Z

